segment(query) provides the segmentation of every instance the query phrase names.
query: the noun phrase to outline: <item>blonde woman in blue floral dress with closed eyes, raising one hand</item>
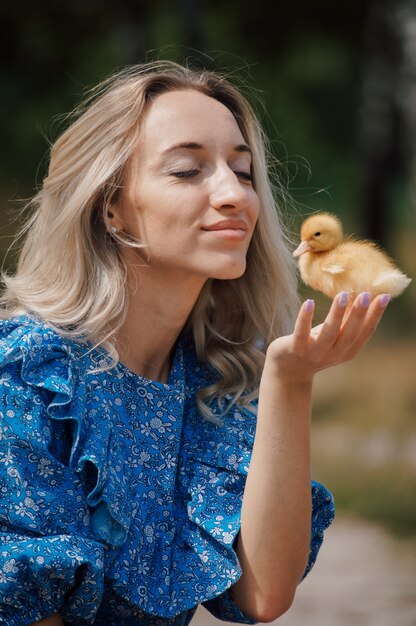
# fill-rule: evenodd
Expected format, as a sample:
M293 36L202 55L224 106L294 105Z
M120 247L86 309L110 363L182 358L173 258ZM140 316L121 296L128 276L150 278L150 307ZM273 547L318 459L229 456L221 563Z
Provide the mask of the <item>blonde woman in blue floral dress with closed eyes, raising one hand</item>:
M4 623L276 619L333 517L310 483L314 374L388 296L347 317L340 294L315 331L308 300L292 332L261 131L209 72L107 81L33 205L3 297Z

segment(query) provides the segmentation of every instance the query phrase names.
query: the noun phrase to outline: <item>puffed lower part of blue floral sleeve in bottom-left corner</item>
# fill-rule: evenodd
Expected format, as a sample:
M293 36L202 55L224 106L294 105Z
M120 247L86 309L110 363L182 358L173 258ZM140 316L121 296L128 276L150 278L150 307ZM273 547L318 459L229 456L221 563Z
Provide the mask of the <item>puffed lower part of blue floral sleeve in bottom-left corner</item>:
M56 612L73 624L92 623L102 596L101 546L4 529L0 544L0 623L25 626Z

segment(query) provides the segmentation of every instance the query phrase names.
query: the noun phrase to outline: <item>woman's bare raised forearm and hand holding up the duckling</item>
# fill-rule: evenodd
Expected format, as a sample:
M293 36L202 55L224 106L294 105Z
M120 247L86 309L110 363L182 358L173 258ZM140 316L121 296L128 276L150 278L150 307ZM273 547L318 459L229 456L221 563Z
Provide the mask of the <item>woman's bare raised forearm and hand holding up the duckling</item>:
M346 314L343 298L337 296L325 323L314 331L309 301L293 335L269 346L236 546L243 574L232 587L235 602L254 619L272 621L290 607L308 560L314 374L361 350L386 300L377 297L368 306L366 296L358 297Z

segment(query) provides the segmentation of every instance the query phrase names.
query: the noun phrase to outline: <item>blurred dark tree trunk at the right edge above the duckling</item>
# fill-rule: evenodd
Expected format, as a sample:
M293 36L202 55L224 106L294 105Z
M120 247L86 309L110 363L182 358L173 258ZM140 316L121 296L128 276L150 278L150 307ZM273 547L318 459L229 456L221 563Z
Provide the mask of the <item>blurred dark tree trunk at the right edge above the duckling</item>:
M368 16L360 137L363 215L368 237L385 242L391 189L406 167L416 206L416 5L378 0Z

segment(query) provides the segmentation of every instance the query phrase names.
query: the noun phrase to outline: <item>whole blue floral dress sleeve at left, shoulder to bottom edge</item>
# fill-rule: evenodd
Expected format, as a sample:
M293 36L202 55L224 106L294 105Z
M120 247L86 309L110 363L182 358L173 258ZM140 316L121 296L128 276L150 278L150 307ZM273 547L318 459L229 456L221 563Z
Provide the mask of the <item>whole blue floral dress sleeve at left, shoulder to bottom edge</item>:
M66 462L71 434L52 438L47 409L62 393L62 365L37 363L35 375L17 339L0 341L0 623L24 626L59 611L81 626L101 601L104 546Z

